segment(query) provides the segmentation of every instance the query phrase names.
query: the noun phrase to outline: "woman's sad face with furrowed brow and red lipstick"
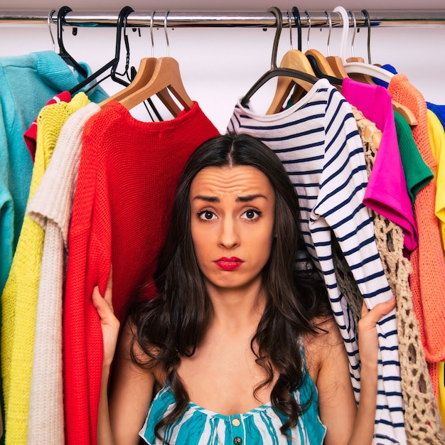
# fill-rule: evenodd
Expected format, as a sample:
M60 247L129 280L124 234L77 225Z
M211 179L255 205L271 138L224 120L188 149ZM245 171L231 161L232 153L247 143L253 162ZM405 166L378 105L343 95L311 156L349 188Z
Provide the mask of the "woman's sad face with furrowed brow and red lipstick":
M203 168L191 183L190 203L193 245L209 291L259 284L274 232L267 176L251 166Z

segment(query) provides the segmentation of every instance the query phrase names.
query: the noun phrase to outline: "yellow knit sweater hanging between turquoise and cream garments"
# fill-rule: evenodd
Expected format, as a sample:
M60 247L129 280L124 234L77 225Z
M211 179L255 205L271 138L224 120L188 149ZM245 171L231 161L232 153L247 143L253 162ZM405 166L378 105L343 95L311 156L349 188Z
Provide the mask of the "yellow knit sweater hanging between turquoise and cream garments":
M89 102L85 94L70 103L44 107L38 115L36 163L29 199L50 162L60 129L68 116ZM36 329L43 228L25 215L8 281L1 296L1 365L4 378L5 443L26 444L31 372ZM45 358L47 359L47 358Z

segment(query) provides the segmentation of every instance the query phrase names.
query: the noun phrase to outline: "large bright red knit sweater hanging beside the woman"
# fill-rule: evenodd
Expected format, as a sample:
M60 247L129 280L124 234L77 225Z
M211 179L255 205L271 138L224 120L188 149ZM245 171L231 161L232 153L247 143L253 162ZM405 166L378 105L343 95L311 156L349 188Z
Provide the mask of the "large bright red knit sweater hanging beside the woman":
M111 102L86 124L68 237L63 309L66 440L96 444L102 330L92 289L103 294L113 265L113 306L122 321L150 277L188 156L218 134L198 104L167 122L139 122Z

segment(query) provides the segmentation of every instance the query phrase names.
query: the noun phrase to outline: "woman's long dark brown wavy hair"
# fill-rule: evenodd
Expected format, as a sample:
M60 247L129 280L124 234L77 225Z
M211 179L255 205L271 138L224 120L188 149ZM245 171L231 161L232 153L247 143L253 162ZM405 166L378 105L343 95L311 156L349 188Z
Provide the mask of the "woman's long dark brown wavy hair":
M274 188L275 236L269 261L262 271L267 303L250 347L267 375L254 394L273 381L274 370L279 373L271 402L276 411L287 417L281 427L283 434L296 425L306 408L292 396L305 372L301 337L317 331L315 318L331 314L326 287L318 272L313 267L295 267L297 254L306 252L300 232L299 203L277 155L247 134L225 134L205 141L191 155L176 188L171 224L154 274L158 296L139 302L131 313L136 326L134 341L147 356L141 360L132 350L132 360L151 370L160 367L176 397L174 409L155 427L156 436L162 441L159 430L175 422L190 401L176 372L181 356L195 353L213 317L213 306L193 249L189 198L193 178L210 166L253 166L269 178Z

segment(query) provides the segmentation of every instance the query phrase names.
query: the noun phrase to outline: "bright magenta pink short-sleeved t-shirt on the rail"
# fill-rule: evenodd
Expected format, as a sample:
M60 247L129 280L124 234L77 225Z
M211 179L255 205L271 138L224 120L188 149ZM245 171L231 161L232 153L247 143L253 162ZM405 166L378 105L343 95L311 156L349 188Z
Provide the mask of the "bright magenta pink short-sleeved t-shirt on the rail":
M341 92L382 132L363 203L402 227L404 247L411 252L417 247L418 232L400 159L390 94L379 85L368 85L349 78L343 80Z

